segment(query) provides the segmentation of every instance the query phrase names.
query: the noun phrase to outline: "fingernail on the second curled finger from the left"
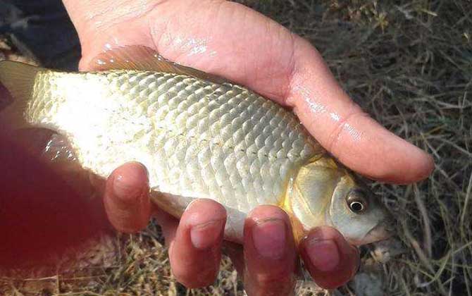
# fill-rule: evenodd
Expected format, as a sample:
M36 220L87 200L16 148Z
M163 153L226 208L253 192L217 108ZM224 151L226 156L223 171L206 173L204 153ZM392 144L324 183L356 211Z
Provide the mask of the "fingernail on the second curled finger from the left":
M192 226L190 229L192 245L197 249L213 247L221 239L224 224L223 220L213 220Z

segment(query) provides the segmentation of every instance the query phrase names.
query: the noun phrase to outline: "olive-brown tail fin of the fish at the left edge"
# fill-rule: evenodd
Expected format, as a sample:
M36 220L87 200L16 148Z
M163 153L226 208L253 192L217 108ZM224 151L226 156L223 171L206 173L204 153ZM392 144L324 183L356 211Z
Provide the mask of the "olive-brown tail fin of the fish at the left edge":
M0 117L13 128L27 126L23 113L32 98L35 78L41 68L14 61L0 61L0 83L11 97L0 95Z

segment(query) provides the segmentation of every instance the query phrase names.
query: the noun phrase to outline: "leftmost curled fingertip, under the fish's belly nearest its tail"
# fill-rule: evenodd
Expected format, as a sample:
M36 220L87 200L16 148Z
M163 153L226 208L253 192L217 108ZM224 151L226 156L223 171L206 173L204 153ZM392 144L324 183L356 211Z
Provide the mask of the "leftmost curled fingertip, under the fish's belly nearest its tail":
M134 233L145 228L151 212L146 168L130 162L113 171L106 181L104 205L116 230Z

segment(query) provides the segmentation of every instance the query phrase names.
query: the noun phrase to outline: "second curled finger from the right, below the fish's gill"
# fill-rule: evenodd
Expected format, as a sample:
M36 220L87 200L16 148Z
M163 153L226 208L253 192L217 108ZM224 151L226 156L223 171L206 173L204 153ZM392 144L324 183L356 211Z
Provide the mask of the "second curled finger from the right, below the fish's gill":
M259 206L244 223L244 287L248 295L290 295L296 251L290 220L276 206Z

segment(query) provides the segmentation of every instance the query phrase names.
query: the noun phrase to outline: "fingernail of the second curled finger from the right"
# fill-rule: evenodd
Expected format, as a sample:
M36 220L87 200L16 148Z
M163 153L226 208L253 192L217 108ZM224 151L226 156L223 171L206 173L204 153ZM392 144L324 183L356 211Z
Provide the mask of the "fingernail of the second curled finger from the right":
M280 259L285 254L286 232L280 219L257 221L251 230L256 252L268 259Z

